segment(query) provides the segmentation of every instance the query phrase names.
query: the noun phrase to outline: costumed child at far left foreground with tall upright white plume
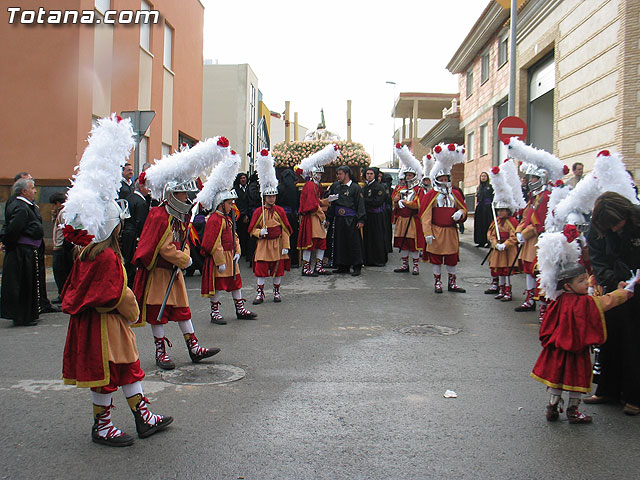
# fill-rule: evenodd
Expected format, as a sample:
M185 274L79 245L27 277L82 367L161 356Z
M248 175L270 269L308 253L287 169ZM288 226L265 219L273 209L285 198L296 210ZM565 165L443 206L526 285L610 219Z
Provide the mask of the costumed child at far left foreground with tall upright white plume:
M69 328L64 347L62 378L67 385L91 388L91 439L124 447L133 437L111 421L111 395L118 387L127 398L140 438L167 427L171 417L149 410L141 380L144 372L131 324L138 304L127 287L118 234L128 217L126 201L118 203L121 169L133 147L129 120L117 116L98 121L91 132L73 186L62 212L67 241L82 246L63 290L62 310Z

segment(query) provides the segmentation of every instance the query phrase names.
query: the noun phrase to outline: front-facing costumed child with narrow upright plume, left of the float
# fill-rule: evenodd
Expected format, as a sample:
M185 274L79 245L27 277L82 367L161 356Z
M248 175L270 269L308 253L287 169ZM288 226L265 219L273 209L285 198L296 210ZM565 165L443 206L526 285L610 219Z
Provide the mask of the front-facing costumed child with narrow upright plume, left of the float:
M256 171L264 204L254 210L249 222L249 233L258 239L253 255L253 274L258 283L254 305L264 302L266 277L273 278L273 301L281 302L280 282L284 272L291 269L289 261L291 225L284 209L275 204L278 195L278 179L273 166L273 157L268 150L260 152L256 160Z

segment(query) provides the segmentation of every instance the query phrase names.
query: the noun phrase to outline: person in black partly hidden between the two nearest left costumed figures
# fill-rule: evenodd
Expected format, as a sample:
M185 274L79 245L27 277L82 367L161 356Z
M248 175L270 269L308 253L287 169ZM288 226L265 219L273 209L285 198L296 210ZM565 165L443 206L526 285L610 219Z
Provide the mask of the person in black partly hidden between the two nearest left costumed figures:
M136 253L138 239L142 233L144 222L147 220L149 205L151 204L149 189L147 187L140 185L140 183L136 181L134 188L135 191L126 198L127 202L129 202L129 213L131 217L124 221L122 233L120 234L122 259L124 260L124 268L127 271L127 283L130 288L133 286L133 279L136 275L136 266L131 263L131 259Z

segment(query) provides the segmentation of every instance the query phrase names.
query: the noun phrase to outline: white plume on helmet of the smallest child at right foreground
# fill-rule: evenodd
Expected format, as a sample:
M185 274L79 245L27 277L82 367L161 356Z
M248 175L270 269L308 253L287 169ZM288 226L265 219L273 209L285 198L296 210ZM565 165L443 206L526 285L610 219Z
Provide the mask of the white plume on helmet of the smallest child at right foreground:
M557 290L558 274L565 268L578 264L580 245L574 240L569 243L562 232L545 232L538 238L538 280L545 296L556 300L562 293Z

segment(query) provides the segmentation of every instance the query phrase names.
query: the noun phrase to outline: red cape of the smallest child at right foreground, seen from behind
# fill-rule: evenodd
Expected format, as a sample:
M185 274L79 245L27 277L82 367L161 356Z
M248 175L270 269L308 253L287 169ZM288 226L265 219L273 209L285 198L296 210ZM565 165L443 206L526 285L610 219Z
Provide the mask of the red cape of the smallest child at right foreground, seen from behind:
M540 326L542 353L531 376L551 388L591 390L589 347L607 339L604 314L593 297L563 293L547 307Z

